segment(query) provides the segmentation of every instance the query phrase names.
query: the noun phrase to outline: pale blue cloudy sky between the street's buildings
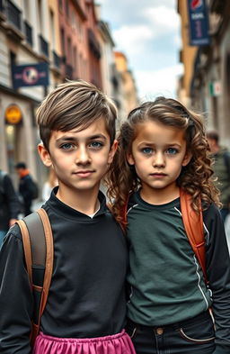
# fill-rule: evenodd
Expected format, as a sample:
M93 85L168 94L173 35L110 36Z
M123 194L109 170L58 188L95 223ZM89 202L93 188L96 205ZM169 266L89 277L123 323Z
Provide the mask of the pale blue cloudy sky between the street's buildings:
M141 101L176 98L181 22L176 0L97 0L109 23L115 50L128 59Z

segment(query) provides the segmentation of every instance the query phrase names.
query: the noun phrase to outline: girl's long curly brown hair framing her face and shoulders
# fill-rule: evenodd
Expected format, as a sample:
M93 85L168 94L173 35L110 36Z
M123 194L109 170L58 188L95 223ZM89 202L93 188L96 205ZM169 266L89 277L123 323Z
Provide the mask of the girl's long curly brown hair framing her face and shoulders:
M184 107L172 98L158 97L154 102L146 102L128 114L119 132L119 148L106 176L108 196L111 200L111 211L121 224L124 224L124 207L128 195L141 186L136 170L127 161L127 153L131 151L132 142L137 136L139 123L154 121L184 130L187 150L191 152L190 163L181 169L177 185L189 193L191 205L199 210L199 196L202 204L208 207L214 202L218 206L219 192L212 177L212 160L209 158L208 141L202 116Z

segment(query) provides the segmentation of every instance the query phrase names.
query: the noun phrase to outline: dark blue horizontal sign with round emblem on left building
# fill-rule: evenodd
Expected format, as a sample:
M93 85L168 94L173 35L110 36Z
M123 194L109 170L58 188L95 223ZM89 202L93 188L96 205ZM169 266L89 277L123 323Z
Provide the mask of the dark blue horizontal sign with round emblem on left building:
M48 63L13 65L13 88L22 86L49 86Z

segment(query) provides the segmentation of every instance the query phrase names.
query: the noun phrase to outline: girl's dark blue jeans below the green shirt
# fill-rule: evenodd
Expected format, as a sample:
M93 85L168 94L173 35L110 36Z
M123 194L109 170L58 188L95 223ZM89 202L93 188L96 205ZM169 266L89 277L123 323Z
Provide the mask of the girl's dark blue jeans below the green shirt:
M215 350L215 330L208 312L159 327L128 320L126 331L137 354L211 354Z

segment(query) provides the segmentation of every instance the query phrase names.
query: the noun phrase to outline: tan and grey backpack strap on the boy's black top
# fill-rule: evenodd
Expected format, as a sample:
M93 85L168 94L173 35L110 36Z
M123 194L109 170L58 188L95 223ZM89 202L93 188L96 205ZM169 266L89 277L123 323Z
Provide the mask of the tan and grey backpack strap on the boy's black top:
M49 294L54 257L53 236L49 217L42 208L17 223L22 231L26 267L34 297L31 330L31 344L33 345L40 330L40 318Z

